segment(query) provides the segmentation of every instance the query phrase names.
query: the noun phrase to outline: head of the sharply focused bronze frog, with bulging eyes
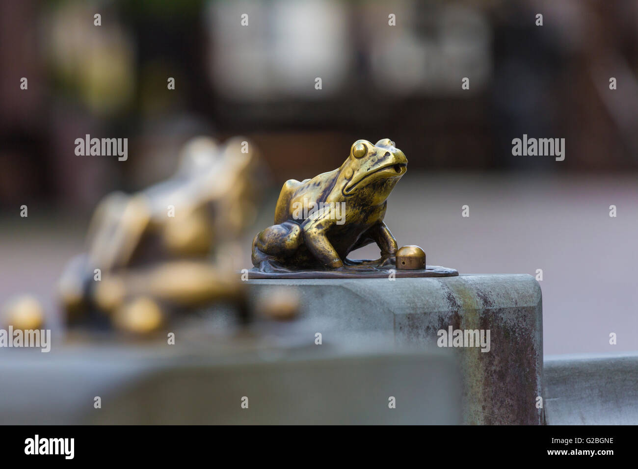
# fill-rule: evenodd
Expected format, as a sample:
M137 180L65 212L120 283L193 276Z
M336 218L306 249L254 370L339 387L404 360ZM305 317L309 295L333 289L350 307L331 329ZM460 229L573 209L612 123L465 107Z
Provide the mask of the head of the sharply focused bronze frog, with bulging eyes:
M371 203L381 204L406 173L407 165L405 155L389 138L376 144L357 140L341 165L341 193L345 197L364 195Z

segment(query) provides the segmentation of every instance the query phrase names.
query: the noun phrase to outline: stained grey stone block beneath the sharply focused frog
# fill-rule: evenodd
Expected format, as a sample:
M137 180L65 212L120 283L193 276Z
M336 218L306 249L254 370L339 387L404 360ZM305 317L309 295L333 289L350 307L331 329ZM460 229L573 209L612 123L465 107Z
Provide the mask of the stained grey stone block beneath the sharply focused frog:
M369 341L390 334L396 345L436 347L440 330L490 331L490 350L455 348L463 376L463 421L468 424L541 424L542 295L529 275L447 278L256 279L263 289L297 289L302 318L324 331L324 341Z

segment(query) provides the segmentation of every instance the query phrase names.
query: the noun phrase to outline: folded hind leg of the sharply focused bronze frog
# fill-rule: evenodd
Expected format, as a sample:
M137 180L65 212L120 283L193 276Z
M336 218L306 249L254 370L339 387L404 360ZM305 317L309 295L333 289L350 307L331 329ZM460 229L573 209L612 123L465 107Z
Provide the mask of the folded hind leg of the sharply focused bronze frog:
M272 225L258 233L253 239L253 265L260 271L276 272L299 248L303 236L301 227L293 221ZM287 269L285 269L287 271Z

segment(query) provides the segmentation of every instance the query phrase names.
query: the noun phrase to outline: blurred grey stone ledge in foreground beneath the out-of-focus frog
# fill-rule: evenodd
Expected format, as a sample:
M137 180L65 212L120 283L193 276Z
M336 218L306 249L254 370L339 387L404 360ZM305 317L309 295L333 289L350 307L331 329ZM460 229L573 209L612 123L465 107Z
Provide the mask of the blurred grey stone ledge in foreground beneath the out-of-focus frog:
M456 424L457 362L354 341L64 346L0 351L3 424ZM294 343L290 343L290 341ZM35 353L32 353L35 352ZM425 373L423 371L426 371ZM94 408L100 396L101 408ZM248 408L242 408L242 398ZM396 408L389 408L389 398Z

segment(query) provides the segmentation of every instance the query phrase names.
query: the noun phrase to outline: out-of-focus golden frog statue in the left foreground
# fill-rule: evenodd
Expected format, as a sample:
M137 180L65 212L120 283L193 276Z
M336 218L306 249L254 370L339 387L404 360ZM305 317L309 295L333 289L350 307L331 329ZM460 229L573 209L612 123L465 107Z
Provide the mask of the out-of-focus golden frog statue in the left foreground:
M133 195L115 192L96 208L87 253L59 281L70 322L107 313L132 332L152 332L168 311L216 301L245 314L232 253L253 221L258 154L246 138L190 140L176 174ZM239 260L237 260L239 261Z

